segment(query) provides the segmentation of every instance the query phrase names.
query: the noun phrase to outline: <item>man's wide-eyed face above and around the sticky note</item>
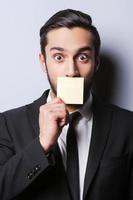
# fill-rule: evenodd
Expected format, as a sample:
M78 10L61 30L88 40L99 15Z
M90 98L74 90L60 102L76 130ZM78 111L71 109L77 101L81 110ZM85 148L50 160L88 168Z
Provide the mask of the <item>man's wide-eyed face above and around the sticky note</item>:
M58 77L84 77L85 93L89 93L98 58L95 58L93 35L80 27L59 28L47 34L44 57L40 62L47 72L54 95Z

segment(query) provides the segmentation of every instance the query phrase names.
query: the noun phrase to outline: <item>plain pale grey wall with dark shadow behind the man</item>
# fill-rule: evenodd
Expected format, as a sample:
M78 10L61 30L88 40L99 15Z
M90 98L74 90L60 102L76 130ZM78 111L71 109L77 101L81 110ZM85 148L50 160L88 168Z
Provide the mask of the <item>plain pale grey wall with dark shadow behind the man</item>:
M131 0L0 0L0 111L30 103L49 87L38 61L39 29L60 9L92 16L102 40L96 91L133 110Z

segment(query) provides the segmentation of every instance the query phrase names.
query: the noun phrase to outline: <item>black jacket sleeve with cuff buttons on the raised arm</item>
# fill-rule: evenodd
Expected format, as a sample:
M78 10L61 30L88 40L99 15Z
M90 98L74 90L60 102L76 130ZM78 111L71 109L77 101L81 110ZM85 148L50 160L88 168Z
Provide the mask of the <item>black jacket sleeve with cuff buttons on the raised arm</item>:
M21 151L15 151L6 121L0 114L0 200L12 199L21 194L50 166L38 137Z

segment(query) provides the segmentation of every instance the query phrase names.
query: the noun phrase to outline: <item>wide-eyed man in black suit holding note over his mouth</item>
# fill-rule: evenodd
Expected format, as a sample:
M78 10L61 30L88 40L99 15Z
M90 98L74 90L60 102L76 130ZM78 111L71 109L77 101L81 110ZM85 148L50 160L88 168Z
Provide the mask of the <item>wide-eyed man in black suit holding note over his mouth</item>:
M40 38L39 58L51 89L0 116L0 199L133 199L133 114L99 102L90 92L100 50L91 17L60 11L41 28ZM58 77L83 77L83 105L57 97ZM73 113L80 113L72 129L76 142L70 145L77 149L69 152ZM68 164L68 152L77 151L78 159L75 154Z

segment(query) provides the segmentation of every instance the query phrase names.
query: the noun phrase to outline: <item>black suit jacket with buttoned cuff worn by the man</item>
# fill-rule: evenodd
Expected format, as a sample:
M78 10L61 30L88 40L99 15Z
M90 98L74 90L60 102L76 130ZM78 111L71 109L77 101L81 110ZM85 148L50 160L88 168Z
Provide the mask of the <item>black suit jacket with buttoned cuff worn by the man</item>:
M38 139L39 107L0 115L0 200L71 200L58 145L46 156ZM84 200L133 200L133 114L94 98Z

